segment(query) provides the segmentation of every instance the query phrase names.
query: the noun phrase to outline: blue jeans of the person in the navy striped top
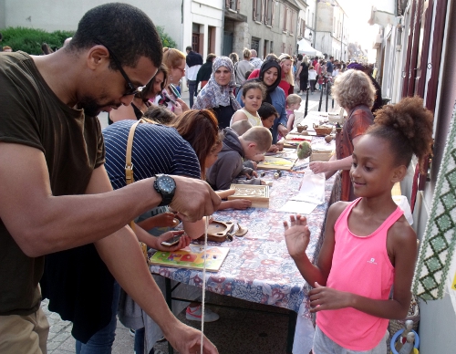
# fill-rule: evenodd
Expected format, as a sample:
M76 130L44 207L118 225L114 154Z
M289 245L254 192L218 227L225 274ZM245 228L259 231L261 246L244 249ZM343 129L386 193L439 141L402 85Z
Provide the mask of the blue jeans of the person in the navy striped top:
M110 354L116 337L117 309L119 307L120 286L114 282L111 307L111 321L108 326L98 330L86 344L76 341L76 354Z

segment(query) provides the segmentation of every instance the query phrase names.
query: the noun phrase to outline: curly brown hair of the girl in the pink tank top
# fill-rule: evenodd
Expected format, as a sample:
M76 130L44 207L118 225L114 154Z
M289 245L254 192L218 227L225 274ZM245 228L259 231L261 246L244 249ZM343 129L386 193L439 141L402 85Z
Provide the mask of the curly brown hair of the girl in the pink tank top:
M375 113L374 125L366 134L389 141L397 165L409 167L415 154L423 171L424 158L432 153L432 122L434 117L423 106L418 96L401 99L395 105L386 105Z

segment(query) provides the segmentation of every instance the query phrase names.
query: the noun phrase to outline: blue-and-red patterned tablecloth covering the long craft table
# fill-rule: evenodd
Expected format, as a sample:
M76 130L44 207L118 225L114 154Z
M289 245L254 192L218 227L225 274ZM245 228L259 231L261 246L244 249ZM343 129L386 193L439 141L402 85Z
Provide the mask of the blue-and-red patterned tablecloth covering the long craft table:
M315 140L318 144L325 143L323 138ZM285 151L281 155L293 157L293 154L294 151ZM302 171L307 164L308 159L297 161L294 171ZM292 337L289 338L287 347L287 352L290 353L295 314L298 314L293 352L308 354L311 348L306 348L302 340L307 338L311 346L313 326L307 297L310 286L297 270L286 249L283 221L289 220L290 213L279 211L288 199L298 192L303 174L283 172L282 177L274 180L274 172L266 171L263 177L266 182L273 182L269 209L248 208L214 213L215 220L237 222L248 227L249 231L244 237L234 237L233 242L209 243L229 247L230 252L219 272L206 273L206 290L291 310L289 331L292 331ZM318 205L307 215L311 239L306 254L311 261L316 259L323 243L322 233L332 186L333 179L326 181L325 203ZM296 213L299 211L296 210ZM150 265L150 272L188 285L202 286L202 271L199 270ZM300 342L299 345L296 340Z

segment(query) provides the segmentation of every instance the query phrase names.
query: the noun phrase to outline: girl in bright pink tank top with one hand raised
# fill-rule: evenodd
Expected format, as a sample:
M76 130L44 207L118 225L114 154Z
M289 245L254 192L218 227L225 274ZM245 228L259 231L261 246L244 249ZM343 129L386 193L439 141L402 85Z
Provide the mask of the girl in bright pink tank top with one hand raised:
M288 252L315 286L309 292L311 312L317 312L315 354L385 353L388 319L407 316L417 237L391 188L406 176L413 154L422 166L431 144L432 113L422 99L385 106L353 152L358 199L329 208L316 265L306 255L306 218L291 216L290 227L284 222Z

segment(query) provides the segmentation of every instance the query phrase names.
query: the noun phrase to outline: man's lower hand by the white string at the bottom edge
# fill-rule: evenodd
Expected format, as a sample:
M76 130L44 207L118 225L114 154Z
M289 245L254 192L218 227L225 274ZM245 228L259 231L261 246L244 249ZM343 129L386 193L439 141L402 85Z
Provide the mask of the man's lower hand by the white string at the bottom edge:
M204 354L218 354L218 350L212 342L203 337L201 343L201 332L198 329L189 327L179 322L179 327L164 333L165 338L171 343L172 348L178 350L181 354L200 354L201 344Z

